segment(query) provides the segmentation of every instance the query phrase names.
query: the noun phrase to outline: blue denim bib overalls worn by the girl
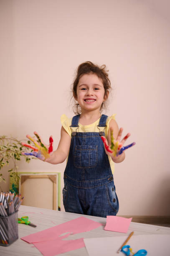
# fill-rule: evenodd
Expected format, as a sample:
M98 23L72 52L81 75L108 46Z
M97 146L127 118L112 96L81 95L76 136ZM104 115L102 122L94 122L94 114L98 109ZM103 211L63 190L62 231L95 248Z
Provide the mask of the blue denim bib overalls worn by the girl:
M78 129L80 115L72 118ZM63 205L66 212L105 217L116 215L119 202L112 170L100 136L107 115L101 115L99 132L72 132L69 157L64 172ZM74 129L75 130L75 129Z

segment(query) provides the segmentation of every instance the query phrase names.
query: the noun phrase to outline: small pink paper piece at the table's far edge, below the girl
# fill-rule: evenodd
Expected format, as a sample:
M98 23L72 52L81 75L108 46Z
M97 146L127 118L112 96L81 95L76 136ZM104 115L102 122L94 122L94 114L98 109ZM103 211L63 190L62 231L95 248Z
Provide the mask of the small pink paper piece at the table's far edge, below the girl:
M127 233L132 218L122 218L118 216L107 216L104 230Z

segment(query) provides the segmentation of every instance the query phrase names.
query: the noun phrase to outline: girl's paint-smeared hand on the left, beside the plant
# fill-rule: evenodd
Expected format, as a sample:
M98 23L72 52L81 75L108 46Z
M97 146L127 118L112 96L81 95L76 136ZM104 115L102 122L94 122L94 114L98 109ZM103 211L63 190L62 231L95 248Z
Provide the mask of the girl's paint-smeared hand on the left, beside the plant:
M35 141L31 136L27 135L26 137L33 141L35 147L21 143L23 146L27 148L31 148L32 151L30 153L22 152L24 156L36 156L38 159L41 159L43 161L48 161L51 158L51 155L53 153L53 138L50 136L49 138L49 146L43 143L41 137L38 135L38 133L34 132L34 134L37 137L37 141Z

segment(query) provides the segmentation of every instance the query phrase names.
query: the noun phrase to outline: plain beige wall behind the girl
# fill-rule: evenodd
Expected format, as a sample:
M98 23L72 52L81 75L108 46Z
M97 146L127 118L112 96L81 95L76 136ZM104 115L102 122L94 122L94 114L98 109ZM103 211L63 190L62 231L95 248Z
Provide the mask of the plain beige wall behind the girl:
M132 134L129 143L137 143L115 165L120 215L170 215L170 19L167 1L156 3L0 1L0 134L21 139L37 131L46 142L52 134L56 148L61 114L73 115L76 67L106 64L114 87L106 113L116 113L124 135ZM64 166L33 160L19 170ZM0 186L8 189L8 177Z

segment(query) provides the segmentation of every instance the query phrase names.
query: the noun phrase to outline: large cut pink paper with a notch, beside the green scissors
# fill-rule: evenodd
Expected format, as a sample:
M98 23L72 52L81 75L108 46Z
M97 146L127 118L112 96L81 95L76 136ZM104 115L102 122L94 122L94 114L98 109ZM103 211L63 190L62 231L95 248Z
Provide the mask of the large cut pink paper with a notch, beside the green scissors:
M102 226L102 224L85 217L80 217L41 232L24 236L21 239L28 243L33 243L44 256L54 256L85 246L83 238L63 240L64 238L69 237L70 234L90 231L99 226ZM61 236L63 233L68 234Z

